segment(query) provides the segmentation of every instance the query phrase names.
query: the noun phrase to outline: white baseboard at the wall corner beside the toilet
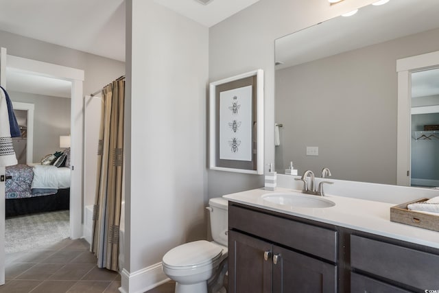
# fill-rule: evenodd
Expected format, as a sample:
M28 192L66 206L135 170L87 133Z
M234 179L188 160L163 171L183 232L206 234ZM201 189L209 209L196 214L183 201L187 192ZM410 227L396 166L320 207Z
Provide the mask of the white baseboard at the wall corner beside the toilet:
M121 272L121 293L143 293L158 285L166 283L170 279L162 270L162 263L156 263L137 272L128 272L122 269Z

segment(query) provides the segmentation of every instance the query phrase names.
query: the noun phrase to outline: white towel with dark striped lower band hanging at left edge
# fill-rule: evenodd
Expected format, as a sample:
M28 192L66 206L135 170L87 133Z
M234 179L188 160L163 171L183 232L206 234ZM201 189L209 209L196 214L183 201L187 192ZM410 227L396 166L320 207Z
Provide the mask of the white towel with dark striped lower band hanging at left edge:
M14 145L12 145L8 103L5 94L0 91L0 166L11 166L17 163Z

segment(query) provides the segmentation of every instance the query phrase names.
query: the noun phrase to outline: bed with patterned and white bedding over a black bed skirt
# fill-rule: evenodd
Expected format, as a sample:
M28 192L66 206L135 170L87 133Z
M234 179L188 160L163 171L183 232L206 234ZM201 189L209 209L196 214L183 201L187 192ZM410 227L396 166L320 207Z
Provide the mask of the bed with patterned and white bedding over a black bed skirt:
M69 209L70 168L54 165L6 167L5 216Z

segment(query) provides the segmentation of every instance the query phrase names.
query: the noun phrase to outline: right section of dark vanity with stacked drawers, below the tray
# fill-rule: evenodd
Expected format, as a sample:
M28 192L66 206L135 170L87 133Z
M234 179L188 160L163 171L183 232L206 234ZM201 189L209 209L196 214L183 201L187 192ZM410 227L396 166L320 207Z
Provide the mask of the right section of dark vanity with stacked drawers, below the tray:
M351 292L439 290L438 251L416 248L403 242L351 235Z

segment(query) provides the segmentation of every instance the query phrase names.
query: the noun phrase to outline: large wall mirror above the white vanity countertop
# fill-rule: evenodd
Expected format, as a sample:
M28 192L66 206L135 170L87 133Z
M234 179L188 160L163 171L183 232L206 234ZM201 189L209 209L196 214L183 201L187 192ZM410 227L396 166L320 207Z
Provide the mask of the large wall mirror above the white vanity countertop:
M439 51L438 15L438 0L390 0L277 39L276 171L292 161L298 174L329 167L336 179L396 184L396 60ZM412 106L439 105L434 72L412 78L412 89L429 88L416 102L412 95ZM439 114L427 114L422 124L439 125ZM438 183L439 139L427 142L422 164L436 164L427 176Z

